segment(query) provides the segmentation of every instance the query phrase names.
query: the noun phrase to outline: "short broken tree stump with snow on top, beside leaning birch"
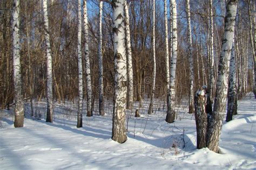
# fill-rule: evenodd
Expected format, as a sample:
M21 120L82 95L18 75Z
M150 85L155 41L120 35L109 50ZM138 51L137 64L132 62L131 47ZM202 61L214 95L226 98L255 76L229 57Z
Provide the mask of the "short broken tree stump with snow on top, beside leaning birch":
M206 91L201 88L194 95L194 116L197 126L197 148L206 147L207 114Z

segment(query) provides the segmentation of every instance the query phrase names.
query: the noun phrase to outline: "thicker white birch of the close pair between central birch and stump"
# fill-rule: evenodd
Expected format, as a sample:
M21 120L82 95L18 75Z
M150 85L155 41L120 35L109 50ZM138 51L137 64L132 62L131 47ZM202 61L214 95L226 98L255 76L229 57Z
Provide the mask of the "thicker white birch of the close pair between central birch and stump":
M170 73L170 112L167 111L165 121L168 123L174 122L175 119L175 95L176 95L176 63L178 56L178 34L177 34L177 4L176 0L170 0L172 6L172 58L171 58L171 73Z

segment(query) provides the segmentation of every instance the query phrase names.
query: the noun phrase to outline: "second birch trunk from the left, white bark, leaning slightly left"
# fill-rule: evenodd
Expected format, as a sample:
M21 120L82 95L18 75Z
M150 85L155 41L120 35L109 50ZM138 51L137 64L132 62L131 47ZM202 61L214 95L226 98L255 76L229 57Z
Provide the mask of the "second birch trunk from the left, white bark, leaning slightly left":
M46 56L47 56L47 83L46 83L47 115L46 115L46 122L52 122L53 121L52 56L51 56L51 45L50 45L50 35L49 35L50 31L49 31L47 0L43 0L43 11L44 11L44 34L45 34L45 44L46 44Z

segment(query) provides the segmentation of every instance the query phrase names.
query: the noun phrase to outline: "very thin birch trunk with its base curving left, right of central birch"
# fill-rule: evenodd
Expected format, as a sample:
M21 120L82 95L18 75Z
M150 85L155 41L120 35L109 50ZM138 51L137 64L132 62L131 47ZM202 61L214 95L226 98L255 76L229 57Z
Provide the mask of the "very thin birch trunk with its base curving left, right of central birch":
M152 75L152 91L151 91L151 98L150 98L150 106L148 114L153 112L153 98L154 92L156 91L156 2L153 0L153 75Z

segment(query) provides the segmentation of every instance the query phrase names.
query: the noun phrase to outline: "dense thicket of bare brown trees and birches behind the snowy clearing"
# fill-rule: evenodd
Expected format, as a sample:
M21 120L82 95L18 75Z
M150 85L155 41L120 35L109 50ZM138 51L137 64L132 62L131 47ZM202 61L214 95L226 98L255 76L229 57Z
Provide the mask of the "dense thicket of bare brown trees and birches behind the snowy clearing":
M18 87L14 71L15 60L12 57L17 53L15 51L17 45L12 41L14 33L12 24L15 21L14 2L16 1L0 2L2 109L14 103L18 104L15 100ZM99 114L103 101L114 96L116 91L114 82L117 79L117 66L114 66L113 57L116 55L114 35L120 34L120 30L113 26L115 2L82 1L84 20L81 21L84 27L81 34L78 33L81 27L77 17L78 1L32 0L19 3L21 93L24 100L31 103L30 115L37 116L36 112L33 112L33 101L48 98L47 115L48 121L52 122L53 103L77 102L80 91L80 101L86 96L87 116L92 116L93 109ZM171 123L176 114L175 105L181 99L188 99L192 96L191 91L204 84L208 87L206 101L208 105L212 104L218 89L217 78L227 2L172 0L166 1L166 11L164 1L128 1L127 5L124 5L126 14L116 17L118 19L122 17L124 29L126 27L124 30L126 52L123 57L127 59L126 68L130 77L125 77L122 86L128 87L128 93L133 91L132 95L129 94L132 97L129 97L128 101L125 98L128 108L132 108L131 98L139 101L140 107L142 101L151 96L161 98L168 102L169 114L166 121ZM230 94L234 94L234 98L238 99L247 91L255 90L255 15L252 11L255 11L254 1L238 2L234 29L234 55L231 58L234 60L232 61L234 69L230 71L232 72L230 79L235 80L232 87L236 88L236 93L231 91ZM156 20L153 20L153 15ZM81 36L80 47L79 36ZM82 49L82 55L78 55L79 48ZM190 67L191 63L193 63L192 67ZM194 88L191 86L192 72ZM192 98L190 101L192 102ZM93 107L101 102L98 108ZM82 108L81 102L79 105ZM193 110L192 106L190 108ZM211 107L206 109L206 112L208 110L211 114L211 109ZM104 115L104 110L100 112Z

